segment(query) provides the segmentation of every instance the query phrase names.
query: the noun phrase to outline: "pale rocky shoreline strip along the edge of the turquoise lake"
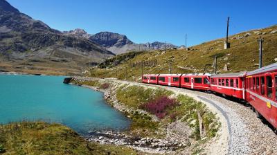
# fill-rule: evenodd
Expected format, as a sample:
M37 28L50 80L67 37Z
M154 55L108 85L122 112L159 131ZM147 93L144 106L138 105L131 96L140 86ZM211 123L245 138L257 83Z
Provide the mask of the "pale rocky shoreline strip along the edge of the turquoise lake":
M74 78L78 80L100 80L100 78L84 78L84 77L78 77ZM69 84L73 84L69 82ZM78 85L78 84L73 84ZM126 111L134 111L135 109L128 108L124 106L123 104L120 104L116 98L114 98L114 92L111 92L111 90L106 89L100 89L98 86L89 86L89 85L78 85L82 86L84 88L92 89L93 91L99 91L103 93L103 98L105 99L106 103L111 105L114 109L117 111L120 111L123 113L127 118L129 118L128 115L126 115ZM141 113L147 113L146 111L140 111ZM159 121L159 119L156 116L152 116L152 119L155 121ZM128 129L127 132L129 132L130 129ZM132 149L136 149L140 152L150 153L150 154L164 154L164 153L172 153L172 149L175 149L174 142L168 142L166 140L162 139L155 139L155 138L139 138L136 136L130 136L129 134L126 134L126 131L93 131L89 133L90 135L88 137L84 137L86 140L89 140L93 143L100 143L100 144L108 144L108 145L123 145L126 147L131 147ZM148 147L147 143L152 143L152 147ZM184 146L187 144L181 144L181 146ZM162 146L171 146L171 149L165 149L162 148Z

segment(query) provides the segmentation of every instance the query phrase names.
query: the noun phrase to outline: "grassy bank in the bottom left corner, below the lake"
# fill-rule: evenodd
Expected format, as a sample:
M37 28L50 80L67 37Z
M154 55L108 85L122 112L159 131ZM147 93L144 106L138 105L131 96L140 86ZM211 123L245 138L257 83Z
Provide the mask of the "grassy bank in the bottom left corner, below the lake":
M0 154L137 154L127 147L89 143L75 131L46 122L0 125Z

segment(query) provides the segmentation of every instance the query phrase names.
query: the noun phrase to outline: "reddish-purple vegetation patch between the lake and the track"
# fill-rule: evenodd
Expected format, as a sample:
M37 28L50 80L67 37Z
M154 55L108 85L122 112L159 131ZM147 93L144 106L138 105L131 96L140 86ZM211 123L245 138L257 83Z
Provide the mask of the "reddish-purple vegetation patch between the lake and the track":
M164 118L167 114L167 109L172 109L177 104L175 99L170 99L167 96L161 96L156 100L152 100L145 104L141 104L142 109L146 109L155 114L158 118Z

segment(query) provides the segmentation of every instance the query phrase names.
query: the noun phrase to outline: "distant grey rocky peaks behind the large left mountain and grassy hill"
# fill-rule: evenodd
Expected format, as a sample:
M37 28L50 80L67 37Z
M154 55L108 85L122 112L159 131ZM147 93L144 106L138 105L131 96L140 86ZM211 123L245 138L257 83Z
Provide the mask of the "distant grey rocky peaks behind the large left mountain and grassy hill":
M120 35L118 33L100 32L96 33L95 35L91 35L80 28L64 31L64 34L89 39L115 54L126 53L128 51L148 51L165 48L178 48L173 44L166 44L164 42L136 44L129 40L126 35Z

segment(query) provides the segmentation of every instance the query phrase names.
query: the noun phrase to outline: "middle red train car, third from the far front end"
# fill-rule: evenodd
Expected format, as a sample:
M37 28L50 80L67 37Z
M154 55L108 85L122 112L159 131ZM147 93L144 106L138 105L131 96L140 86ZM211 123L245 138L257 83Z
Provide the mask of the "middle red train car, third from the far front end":
M192 73L181 75L181 87L186 89L210 90L209 73Z

